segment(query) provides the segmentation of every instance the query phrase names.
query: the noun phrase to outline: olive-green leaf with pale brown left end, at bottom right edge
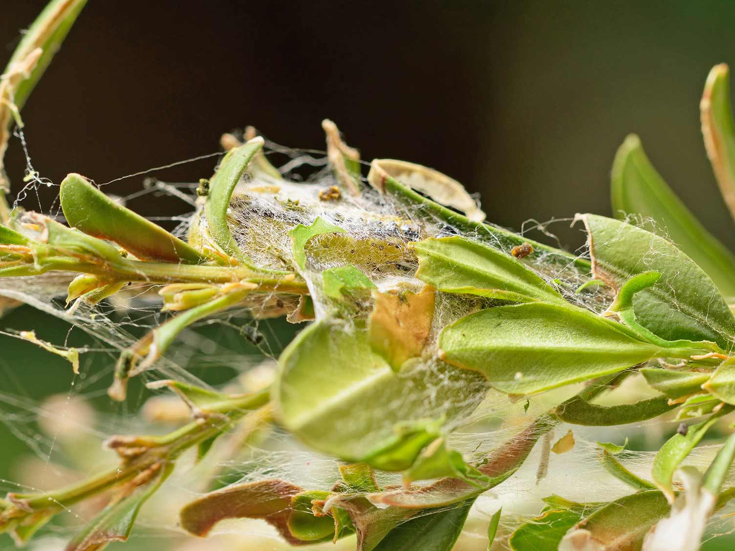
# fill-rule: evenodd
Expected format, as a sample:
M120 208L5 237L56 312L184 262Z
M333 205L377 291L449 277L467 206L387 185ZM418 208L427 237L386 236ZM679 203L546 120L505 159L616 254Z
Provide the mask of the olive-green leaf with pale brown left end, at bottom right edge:
M578 522L559 544L559 551L639 551L650 528L669 514L658 490L621 497Z

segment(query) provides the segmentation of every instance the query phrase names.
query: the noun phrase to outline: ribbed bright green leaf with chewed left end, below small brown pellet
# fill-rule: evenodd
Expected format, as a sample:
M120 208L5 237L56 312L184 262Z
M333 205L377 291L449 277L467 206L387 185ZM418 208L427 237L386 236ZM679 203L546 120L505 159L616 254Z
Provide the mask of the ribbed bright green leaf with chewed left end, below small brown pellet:
M551 284L513 256L465 237L433 237L412 243L416 277L443 292L514 302L564 302Z

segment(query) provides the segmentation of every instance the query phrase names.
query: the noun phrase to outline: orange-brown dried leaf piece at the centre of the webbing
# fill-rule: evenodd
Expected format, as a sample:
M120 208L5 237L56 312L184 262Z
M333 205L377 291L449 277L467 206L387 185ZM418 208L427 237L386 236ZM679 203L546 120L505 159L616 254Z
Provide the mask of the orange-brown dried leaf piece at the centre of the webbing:
M421 292L373 292L374 306L368 323L370 347L395 371L409 359L421 356L434 319L434 288Z

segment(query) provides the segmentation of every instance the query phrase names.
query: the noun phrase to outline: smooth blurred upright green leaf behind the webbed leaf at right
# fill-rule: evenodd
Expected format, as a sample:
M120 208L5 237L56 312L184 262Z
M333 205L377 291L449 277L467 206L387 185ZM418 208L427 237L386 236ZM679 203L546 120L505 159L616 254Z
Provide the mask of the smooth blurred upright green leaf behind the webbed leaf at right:
M626 214L643 217L644 228L675 242L728 300L735 298L735 255L675 195L651 165L635 134L625 138L612 165L612 209L620 220Z

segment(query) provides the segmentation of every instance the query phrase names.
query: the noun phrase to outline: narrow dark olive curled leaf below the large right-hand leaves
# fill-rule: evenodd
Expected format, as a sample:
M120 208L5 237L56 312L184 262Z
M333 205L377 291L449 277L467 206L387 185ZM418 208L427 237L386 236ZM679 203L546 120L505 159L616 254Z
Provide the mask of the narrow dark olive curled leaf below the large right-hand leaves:
M676 405L669 405L669 400L665 396L657 396L631 404L620 404L620 406L595 406L576 396L556 408L556 417L572 425L606 427L653 419L675 407Z

